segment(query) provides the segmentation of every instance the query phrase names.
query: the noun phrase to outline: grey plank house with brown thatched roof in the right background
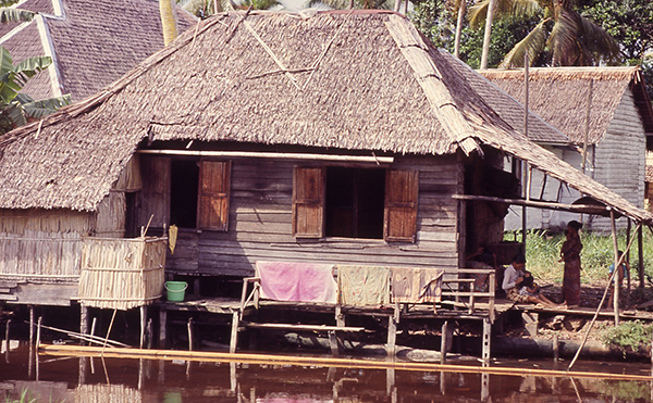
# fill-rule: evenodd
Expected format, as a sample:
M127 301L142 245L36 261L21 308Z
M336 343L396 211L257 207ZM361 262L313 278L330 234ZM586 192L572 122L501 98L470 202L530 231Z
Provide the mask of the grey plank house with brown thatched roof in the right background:
M526 100L523 71L481 71L520 102ZM529 109L569 137L575 149L559 158L607 186L638 207L644 205L646 139L653 135L651 100L639 67L542 67L529 72ZM572 203L581 194L560 182L533 180L553 200ZM507 221L520 226L521 211ZM556 228L578 215L529 209L530 228ZM609 221L586 216L587 227L608 231ZM626 227L626 221L618 226ZM516 224L519 223L519 224Z

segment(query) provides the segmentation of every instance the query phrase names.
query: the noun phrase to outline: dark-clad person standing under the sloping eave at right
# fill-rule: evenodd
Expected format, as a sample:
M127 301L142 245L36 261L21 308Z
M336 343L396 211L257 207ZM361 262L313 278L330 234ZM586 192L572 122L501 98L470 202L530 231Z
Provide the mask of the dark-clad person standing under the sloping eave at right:
M571 221L567 224L565 235L567 240L560 249L559 262L565 262L565 276L563 278L563 303L574 307L580 304L580 251L582 243L578 231L582 224Z

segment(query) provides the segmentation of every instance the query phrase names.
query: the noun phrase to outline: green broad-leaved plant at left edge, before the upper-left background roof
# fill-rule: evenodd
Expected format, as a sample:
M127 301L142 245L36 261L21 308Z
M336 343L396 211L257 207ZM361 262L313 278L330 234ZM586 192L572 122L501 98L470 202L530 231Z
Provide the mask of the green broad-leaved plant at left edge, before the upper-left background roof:
M36 56L14 65L9 51L0 47L0 134L41 118L70 103L71 97L67 95L35 101L20 92L29 78L51 63L49 56Z

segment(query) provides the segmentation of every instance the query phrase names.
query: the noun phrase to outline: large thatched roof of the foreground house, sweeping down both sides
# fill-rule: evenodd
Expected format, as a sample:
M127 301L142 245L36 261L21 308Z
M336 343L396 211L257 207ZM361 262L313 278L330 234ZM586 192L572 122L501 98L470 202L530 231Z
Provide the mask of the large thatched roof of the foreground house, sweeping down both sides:
M513 129L391 12L200 22L96 96L0 137L0 207L94 211L144 138L397 154L488 144L653 222Z

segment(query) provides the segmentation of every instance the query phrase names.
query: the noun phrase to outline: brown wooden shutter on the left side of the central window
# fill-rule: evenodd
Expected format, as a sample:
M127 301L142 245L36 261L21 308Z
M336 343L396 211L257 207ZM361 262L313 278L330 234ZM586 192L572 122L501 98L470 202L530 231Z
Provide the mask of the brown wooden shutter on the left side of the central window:
M321 238L324 234L324 168L293 172L293 236Z

